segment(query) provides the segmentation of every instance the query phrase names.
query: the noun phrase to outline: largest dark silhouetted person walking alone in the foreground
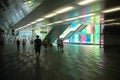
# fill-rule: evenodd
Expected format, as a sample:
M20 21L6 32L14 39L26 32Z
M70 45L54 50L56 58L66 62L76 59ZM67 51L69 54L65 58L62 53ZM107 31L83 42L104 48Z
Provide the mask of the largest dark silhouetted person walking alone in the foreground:
M41 41L41 39L39 39L39 36L37 35L36 39L34 41L34 47L35 47L36 56L37 56L37 54L40 55L41 44L42 44L42 41Z

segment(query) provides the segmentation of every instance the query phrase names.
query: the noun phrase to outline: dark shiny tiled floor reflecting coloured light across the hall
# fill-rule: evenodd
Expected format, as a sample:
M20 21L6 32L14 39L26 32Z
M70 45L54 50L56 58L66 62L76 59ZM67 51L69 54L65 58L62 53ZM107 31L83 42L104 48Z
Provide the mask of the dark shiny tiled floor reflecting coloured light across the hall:
M120 53L98 45L42 47L39 57L29 43L19 52L12 42L0 47L0 80L120 80L119 66Z

